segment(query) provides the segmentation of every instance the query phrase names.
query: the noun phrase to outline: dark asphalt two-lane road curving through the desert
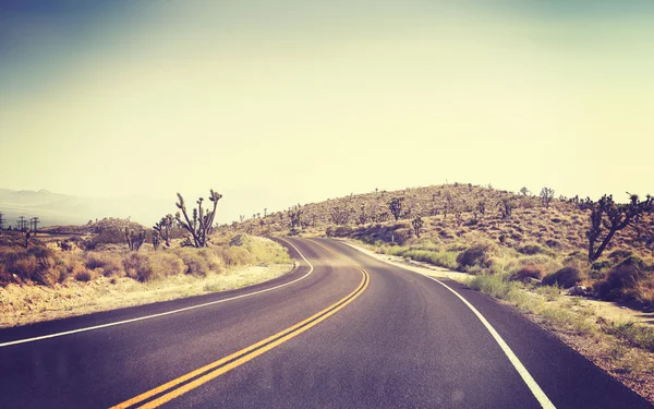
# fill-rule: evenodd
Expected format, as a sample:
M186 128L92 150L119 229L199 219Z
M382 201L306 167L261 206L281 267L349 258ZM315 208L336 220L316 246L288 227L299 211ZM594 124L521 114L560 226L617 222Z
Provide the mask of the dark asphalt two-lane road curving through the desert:
M651 407L456 281L288 241L266 284L0 330L0 408Z

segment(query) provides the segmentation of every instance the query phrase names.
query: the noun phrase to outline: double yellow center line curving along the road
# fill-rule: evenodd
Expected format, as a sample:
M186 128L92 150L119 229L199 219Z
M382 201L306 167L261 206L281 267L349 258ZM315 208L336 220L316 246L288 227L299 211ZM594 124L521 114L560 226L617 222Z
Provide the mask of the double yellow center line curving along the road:
M338 254L334 253L332 251L330 251L323 244L317 243L315 241L312 241L312 242L322 246L330 254L340 258L340 256ZM348 296L343 297L336 303L329 305L325 310L310 316L308 318L306 318L284 330L277 333L266 339L263 339L256 344L253 344L247 348L241 349L240 351L234 352L222 359L219 359L218 361L211 362L208 365L205 365L195 371L189 372L185 375L177 377L164 385L157 386L156 388L150 389L146 393L143 393L136 397L133 397L132 399L129 399L121 404L118 404L118 405L111 407L111 409L130 408L130 407L134 407L138 404L142 404L146 400L147 401L145 404L141 405L140 408L157 408L157 407L187 393L189 390L192 390L192 389L222 375L223 373L229 372L229 371L233 370L234 368L240 366L243 363L253 360L254 358L261 356L262 353L269 351L270 349L277 347L278 345L281 345L281 344L288 341L289 339L304 333L305 330L308 330L310 328L317 325L318 323L327 320L328 317L330 317L331 315L336 314L338 311L343 309L346 305L348 305L350 302L354 301L354 299L356 299L359 296L361 296L361 293L363 291L365 291L365 289L367 288L367 286L370 284L371 278L370 278L368 273L358 265L353 264L353 266L356 269L359 269L362 274L361 282L359 284L359 286L356 287L356 289L354 291L350 292Z

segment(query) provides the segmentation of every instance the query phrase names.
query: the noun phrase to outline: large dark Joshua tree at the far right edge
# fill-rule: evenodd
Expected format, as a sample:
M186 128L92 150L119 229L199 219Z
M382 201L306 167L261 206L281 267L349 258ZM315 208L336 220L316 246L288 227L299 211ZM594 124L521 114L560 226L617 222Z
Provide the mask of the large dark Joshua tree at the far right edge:
M597 203L584 203L582 208L591 208L591 227L586 232L589 239L589 262L600 258L602 252L606 249L610 239L618 230L628 226L635 226L641 216L645 213L654 212L654 197L647 195L641 201L637 194L629 194L629 203L618 204L613 200L613 195L604 195ZM603 239L601 236L606 229ZM602 243L595 250L595 243L601 240Z

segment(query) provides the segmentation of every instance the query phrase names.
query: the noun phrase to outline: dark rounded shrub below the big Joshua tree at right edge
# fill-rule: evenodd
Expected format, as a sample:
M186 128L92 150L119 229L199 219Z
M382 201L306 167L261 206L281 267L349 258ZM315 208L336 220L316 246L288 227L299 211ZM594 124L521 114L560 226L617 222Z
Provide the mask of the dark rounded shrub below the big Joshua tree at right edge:
M647 272L643 261L632 255L613 267L604 280L596 281L593 290L598 298L611 301L629 296L641 280L646 279Z

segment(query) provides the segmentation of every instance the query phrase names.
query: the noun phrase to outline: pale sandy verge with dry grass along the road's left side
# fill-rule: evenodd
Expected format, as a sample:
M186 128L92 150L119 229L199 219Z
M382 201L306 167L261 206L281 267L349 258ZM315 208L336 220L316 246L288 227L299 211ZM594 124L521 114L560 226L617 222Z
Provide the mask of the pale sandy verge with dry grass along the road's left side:
M0 328L232 290L279 277L292 267L250 266L206 278L175 276L146 284L100 277L88 282L69 279L53 288L9 285L0 288Z

